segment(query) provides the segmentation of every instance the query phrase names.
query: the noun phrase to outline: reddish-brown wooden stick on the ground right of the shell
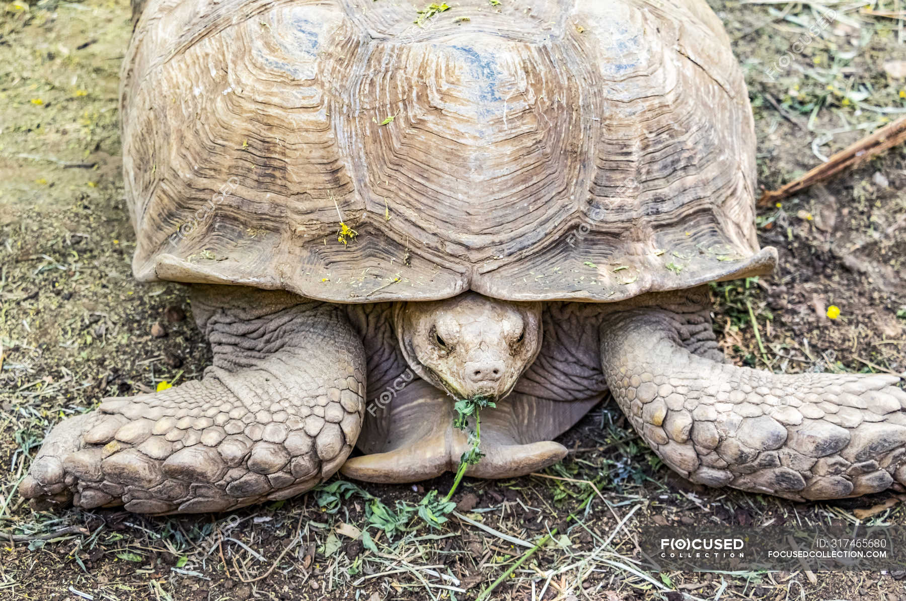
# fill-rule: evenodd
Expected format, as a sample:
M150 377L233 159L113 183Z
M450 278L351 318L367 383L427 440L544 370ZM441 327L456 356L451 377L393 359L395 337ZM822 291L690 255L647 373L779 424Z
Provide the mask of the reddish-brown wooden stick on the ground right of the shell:
M901 117L878 129L871 136L843 148L828 158L827 162L814 167L805 176L799 177L777 190L766 190L765 194L758 199L758 206L771 205L783 200L786 196L792 196L796 192L805 190L808 186L835 176L841 171L861 163L866 158L879 155L904 141L906 141L906 117Z

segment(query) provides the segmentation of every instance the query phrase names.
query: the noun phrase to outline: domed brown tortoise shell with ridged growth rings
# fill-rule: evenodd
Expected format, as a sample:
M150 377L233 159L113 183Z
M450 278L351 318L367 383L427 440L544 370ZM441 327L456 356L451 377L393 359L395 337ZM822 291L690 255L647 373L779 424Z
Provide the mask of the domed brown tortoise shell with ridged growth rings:
M148 0L123 67L141 281L622 300L770 272L704 0Z

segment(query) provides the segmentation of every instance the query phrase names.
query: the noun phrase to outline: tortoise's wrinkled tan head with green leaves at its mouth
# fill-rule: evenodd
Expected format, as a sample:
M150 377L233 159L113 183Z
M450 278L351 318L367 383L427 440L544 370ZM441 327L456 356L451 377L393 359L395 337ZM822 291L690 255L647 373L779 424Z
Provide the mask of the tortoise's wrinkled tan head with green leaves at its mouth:
M459 398L509 394L541 348L541 305L467 292L398 303L394 321L410 367Z

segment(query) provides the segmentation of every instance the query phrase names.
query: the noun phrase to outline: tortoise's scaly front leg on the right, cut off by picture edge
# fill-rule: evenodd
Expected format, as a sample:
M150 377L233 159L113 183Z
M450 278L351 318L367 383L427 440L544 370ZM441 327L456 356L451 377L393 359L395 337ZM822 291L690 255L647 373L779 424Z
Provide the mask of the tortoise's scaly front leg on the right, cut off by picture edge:
M601 329L612 394L664 463L693 482L797 501L906 482L900 378L729 365L713 345L697 354L684 344L690 316L707 308L664 298L614 312Z

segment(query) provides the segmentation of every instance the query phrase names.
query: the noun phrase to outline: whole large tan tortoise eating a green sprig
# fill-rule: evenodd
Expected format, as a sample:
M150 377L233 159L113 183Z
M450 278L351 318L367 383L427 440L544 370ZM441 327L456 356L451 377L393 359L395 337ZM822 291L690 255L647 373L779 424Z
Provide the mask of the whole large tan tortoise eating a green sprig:
M133 6L133 272L190 284L213 365L56 425L20 487L35 506L417 482L457 469L463 398L496 402L467 475L512 477L560 461L608 393L693 482L797 501L906 482L899 378L718 348L708 283L777 255L704 0Z

